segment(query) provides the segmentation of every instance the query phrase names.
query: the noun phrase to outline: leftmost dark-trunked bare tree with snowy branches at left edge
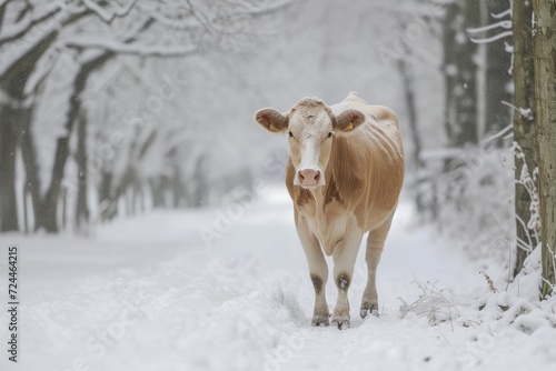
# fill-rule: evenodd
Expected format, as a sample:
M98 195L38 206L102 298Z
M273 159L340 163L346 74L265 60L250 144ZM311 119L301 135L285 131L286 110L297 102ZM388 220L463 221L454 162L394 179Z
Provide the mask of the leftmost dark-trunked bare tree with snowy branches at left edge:
M21 129L29 129L32 119L27 83L39 60L52 50L60 30L90 14L88 7L77 2L68 6L6 0L0 6L0 96L6 97L0 100L0 131L3 132L0 136L0 231L19 229L14 164L16 149L24 132ZM29 181L32 179L28 177Z

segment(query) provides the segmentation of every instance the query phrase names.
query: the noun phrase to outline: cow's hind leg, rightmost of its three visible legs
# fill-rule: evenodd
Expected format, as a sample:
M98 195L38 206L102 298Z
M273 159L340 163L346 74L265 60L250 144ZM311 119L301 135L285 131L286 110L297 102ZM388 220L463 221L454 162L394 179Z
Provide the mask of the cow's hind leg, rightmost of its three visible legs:
M366 318L369 313L378 315L377 267L380 261L380 255L383 254L384 242L390 230L393 215L390 215L380 227L373 230L367 238L365 260L367 262L368 277L359 312L361 318Z

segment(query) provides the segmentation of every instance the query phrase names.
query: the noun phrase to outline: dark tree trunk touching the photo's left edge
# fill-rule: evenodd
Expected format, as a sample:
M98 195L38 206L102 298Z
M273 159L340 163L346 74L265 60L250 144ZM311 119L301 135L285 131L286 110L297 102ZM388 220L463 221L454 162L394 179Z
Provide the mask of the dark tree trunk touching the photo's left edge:
M0 232L19 230L16 202L16 149L19 140L20 109L0 107Z

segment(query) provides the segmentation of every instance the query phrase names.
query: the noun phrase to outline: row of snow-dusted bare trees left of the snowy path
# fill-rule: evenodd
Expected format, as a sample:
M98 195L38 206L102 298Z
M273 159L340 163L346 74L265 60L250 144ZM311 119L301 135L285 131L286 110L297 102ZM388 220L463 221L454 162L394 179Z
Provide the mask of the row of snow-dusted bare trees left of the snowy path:
M113 217L128 193L150 191L155 205L206 200L207 154L183 124L181 99L195 104L183 66L242 50L252 22L285 6L1 0L0 231L20 230L21 213L24 229L58 231L68 190L75 224L86 227L90 184L99 218Z

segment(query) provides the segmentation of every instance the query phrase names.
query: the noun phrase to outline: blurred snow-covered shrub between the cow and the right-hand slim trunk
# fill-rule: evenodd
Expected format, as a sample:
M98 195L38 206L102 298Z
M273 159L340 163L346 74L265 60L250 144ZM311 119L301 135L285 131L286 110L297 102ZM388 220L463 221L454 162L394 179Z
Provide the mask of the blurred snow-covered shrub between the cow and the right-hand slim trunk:
M436 177L429 180L429 202L450 248L464 250L473 260L507 263L508 247L515 249L513 166L509 146L481 144L443 157Z

